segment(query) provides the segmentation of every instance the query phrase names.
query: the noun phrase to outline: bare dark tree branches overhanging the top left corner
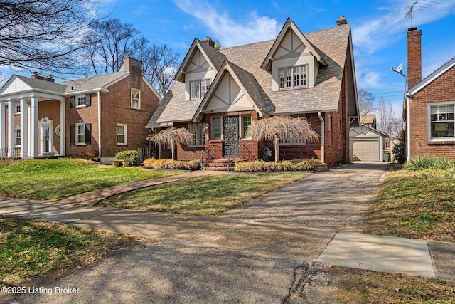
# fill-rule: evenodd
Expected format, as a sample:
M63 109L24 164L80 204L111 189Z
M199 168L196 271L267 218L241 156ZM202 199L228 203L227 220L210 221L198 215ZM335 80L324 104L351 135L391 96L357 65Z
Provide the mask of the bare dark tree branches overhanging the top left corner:
M0 1L0 64L30 71L70 67L94 9L92 0Z

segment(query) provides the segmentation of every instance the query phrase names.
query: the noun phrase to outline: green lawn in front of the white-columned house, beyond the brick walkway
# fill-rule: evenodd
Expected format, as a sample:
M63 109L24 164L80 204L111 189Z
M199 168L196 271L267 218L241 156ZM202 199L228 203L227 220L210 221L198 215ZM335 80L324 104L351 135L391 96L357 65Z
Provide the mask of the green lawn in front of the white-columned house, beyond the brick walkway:
M114 167L80 159L30 159L0 162L0 194L26 199L58 199L95 189L175 173Z

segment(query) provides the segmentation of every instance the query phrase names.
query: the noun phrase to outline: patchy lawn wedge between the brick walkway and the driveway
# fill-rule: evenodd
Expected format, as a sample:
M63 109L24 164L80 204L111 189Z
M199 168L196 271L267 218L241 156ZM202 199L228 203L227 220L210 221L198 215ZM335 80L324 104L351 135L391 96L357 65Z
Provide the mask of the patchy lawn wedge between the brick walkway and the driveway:
M100 205L176 214L215 215L309 175L208 175L119 194L101 201Z

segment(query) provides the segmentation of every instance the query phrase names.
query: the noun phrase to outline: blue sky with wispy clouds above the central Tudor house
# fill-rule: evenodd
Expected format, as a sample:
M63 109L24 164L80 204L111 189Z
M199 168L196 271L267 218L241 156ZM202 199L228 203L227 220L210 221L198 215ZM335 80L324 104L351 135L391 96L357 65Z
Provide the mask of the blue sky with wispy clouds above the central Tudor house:
M193 39L210 36L223 48L274 39L287 17L303 33L336 26L346 16L353 32L358 88L392 100L401 115L405 78L390 71L404 63L405 14L415 0L206 1L117 0L103 9L133 23L152 43L167 43L185 56ZM422 77L455 56L455 0L419 0L413 26L422 29Z

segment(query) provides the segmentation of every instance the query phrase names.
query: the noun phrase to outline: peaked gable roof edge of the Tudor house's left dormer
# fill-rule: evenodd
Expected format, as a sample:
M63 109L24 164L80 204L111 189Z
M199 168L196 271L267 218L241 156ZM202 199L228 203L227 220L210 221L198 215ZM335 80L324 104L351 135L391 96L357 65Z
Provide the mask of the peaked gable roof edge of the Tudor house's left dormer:
M215 50L215 48L208 46L207 43L204 43L203 41L200 41L198 38L195 38L193 43L191 44L190 49L188 50L188 53L186 53L185 58L183 58L183 62L180 65L180 68L178 69L176 77L174 77L174 80L181 83L185 82L186 71L188 69L188 66L191 64L193 56L196 54L196 51L200 51L202 56L210 65L209 68L213 70L218 71L220 69L220 66L223 64L223 61L225 61L226 59L226 57L219 51Z

